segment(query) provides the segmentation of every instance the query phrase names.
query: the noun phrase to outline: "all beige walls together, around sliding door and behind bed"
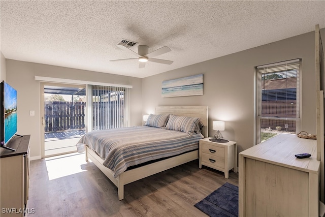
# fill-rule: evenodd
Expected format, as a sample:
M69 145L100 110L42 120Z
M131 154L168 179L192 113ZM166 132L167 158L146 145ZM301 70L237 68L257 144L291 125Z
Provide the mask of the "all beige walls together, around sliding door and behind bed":
M322 39L325 39L321 29ZM236 43L234 43L236 46ZM325 49L325 48L324 48ZM212 120L226 121L224 138L238 142L238 152L254 144L254 67L302 58L301 130L316 133L314 32L204 61L147 78L133 78L6 59L1 65L7 82L18 91L18 133L31 134L31 156L40 153L40 82L35 76L80 79L133 85L131 125L142 124L142 114L155 106L209 106L209 135ZM4 69L3 69L4 68ZM3 71L6 71L3 73ZM161 82L204 74L204 95L161 98ZM35 116L29 116L35 110Z

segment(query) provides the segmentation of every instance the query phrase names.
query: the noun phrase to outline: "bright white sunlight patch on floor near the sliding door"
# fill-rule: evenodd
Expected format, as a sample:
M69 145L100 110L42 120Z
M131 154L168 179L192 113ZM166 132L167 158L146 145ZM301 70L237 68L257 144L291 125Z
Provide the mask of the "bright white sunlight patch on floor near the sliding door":
M89 162L91 162L89 160ZM85 153L70 153L45 159L49 180L83 172Z

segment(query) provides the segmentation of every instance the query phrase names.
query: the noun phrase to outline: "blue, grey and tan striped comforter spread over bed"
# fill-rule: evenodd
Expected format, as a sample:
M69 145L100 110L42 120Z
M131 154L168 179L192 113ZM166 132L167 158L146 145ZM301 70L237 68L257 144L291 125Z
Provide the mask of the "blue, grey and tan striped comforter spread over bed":
M137 126L85 134L78 143L83 143L104 159L103 165L114 172L114 178L127 167L151 160L175 156L198 149L201 134Z

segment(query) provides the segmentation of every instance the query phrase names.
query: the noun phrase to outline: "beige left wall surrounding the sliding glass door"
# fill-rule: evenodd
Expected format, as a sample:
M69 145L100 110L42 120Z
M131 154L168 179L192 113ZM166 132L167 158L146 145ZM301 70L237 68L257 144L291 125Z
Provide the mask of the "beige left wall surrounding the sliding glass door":
M142 124L142 79L6 59L7 82L17 89L18 134L30 134L30 156L41 156L40 81L35 76L132 85L131 125ZM35 116L29 116L35 110Z

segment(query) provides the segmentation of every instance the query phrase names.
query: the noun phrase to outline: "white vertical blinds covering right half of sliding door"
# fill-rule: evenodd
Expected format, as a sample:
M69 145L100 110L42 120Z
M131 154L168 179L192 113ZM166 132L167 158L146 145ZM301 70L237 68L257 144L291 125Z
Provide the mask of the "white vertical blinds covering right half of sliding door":
M129 127L131 88L88 85L91 130Z

